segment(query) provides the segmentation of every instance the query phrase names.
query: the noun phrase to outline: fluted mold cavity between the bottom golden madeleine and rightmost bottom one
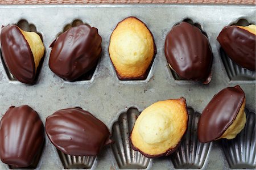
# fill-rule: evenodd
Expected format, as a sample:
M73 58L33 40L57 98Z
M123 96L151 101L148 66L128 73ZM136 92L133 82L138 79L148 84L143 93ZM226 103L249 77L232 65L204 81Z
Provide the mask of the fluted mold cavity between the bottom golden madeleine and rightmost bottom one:
M188 110L188 130L181 140L180 147L171 155L172 163L177 169L200 169L210 151L210 143L201 143L197 139L197 124L200 113L192 108Z

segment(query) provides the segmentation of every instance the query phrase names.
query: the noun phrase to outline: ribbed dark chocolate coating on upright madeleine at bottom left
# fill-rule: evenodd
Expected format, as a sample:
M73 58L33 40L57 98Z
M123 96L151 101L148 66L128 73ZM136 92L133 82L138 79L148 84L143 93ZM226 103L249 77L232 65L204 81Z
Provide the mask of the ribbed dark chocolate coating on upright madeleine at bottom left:
M11 167L31 165L44 143L43 122L28 105L10 107L0 122L0 157Z

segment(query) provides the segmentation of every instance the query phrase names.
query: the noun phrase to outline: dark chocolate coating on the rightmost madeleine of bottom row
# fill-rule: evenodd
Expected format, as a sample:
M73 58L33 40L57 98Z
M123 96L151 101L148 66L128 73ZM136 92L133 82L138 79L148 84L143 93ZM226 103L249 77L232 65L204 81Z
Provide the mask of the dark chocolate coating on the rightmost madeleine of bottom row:
M227 87L214 95L199 119L197 135L200 142L221 137L235 120L245 94L240 86Z

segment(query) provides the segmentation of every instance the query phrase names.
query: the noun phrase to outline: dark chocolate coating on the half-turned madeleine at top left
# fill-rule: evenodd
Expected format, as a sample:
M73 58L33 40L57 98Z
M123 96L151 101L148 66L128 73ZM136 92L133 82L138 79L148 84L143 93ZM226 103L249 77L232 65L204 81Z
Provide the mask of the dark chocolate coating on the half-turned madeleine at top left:
M1 46L3 61L11 74L22 83L33 84L36 76L34 57L18 26L2 27Z

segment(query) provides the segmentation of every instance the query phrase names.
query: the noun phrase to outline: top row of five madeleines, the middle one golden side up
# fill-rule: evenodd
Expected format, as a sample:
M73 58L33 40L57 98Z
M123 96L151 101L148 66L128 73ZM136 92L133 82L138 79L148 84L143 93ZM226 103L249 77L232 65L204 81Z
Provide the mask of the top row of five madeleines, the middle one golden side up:
M256 26L228 26L217 40L241 67L255 71ZM87 24L71 27L50 45L49 68L61 78L75 81L97 65L101 36ZM2 27L3 61L20 82L35 83L44 45L35 32L16 25ZM164 52L169 66L183 79L210 82L213 54L207 36L187 22L174 25L166 36ZM109 43L109 56L121 80L145 79L156 54L154 37L135 17L117 24Z

